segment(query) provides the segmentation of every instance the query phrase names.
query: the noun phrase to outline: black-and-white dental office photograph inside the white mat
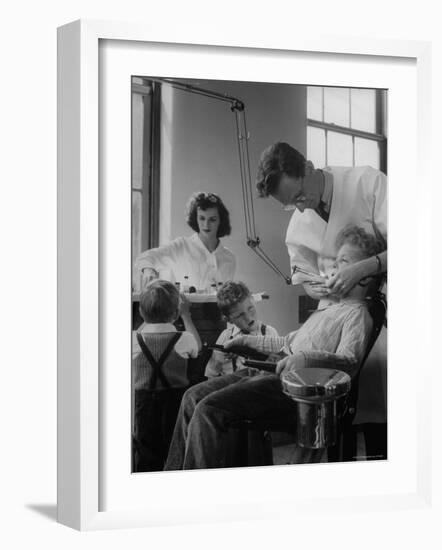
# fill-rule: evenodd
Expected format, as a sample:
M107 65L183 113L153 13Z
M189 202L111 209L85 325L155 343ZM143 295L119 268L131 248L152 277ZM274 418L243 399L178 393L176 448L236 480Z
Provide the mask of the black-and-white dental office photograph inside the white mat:
M131 471L387 460L388 91L130 84Z

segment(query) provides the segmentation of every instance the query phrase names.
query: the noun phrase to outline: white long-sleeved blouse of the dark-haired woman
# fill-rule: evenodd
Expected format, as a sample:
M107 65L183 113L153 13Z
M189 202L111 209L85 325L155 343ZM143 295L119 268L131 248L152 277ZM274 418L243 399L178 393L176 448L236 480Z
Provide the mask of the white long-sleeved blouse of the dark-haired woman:
M235 256L221 242L209 252L197 233L178 237L168 244L142 252L135 260L134 291L141 290L142 270L155 269L160 278L188 284L196 289L210 288L213 283L224 283L235 275Z

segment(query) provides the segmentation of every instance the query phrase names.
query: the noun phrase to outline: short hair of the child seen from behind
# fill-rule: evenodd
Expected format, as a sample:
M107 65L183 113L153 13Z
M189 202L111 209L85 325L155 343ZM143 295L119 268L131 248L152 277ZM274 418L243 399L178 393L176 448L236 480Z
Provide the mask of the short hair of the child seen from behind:
M173 323L180 311L180 293L176 286L157 279L140 296L140 315L146 323Z

